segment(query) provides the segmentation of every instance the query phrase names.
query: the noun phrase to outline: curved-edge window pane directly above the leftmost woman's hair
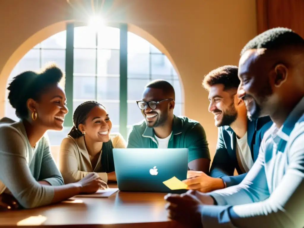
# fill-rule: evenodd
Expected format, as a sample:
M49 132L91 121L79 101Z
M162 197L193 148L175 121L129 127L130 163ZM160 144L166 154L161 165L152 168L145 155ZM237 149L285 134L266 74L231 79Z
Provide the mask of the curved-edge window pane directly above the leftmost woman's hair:
M12 70L8 82L24 71L37 71L40 68L40 50L31 49Z

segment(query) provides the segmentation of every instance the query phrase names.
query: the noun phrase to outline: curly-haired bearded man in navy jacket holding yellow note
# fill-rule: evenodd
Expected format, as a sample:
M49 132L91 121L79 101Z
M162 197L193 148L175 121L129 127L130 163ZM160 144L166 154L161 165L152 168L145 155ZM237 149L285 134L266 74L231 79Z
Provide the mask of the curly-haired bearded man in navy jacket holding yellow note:
M272 125L269 116L250 121L243 99L238 98L240 79L237 66L219 67L203 80L209 92L209 112L214 114L218 129L216 153L210 176L189 171L183 182L188 189L210 192L239 184L253 166L265 131ZM237 176L234 176L234 169Z

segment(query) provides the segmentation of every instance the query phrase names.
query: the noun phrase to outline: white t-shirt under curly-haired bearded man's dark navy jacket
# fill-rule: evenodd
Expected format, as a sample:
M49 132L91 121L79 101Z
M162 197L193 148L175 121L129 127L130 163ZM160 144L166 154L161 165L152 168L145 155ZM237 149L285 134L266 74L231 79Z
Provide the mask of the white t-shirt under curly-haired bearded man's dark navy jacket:
M237 148L236 148L236 152L237 152L237 163L239 164L241 170L244 173L247 173L251 167L253 166L253 160L251 157L251 150L250 147L247 143L247 132L245 133L245 135L238 139L237 138Z

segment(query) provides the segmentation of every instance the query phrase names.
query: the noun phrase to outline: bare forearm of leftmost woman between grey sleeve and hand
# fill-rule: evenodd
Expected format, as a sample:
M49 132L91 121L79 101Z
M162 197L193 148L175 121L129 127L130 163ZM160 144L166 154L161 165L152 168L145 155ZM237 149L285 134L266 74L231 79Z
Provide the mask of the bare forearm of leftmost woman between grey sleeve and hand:
M74 195L78 195L81 190L81 184L72 183L63 186L54 187L54 197L52 203L57 203L65 199L71 198Z

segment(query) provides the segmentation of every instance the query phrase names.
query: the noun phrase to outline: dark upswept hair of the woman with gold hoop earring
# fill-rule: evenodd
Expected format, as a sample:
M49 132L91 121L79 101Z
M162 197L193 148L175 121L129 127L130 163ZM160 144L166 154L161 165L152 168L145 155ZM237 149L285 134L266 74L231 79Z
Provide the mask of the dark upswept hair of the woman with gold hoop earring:
M64 73L56 64L49 64L40 72L25 71L13 78L7 88L9 103L16 109L20 119L28 117L26 102L29 98L39 100L50 86L64 81Z

